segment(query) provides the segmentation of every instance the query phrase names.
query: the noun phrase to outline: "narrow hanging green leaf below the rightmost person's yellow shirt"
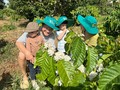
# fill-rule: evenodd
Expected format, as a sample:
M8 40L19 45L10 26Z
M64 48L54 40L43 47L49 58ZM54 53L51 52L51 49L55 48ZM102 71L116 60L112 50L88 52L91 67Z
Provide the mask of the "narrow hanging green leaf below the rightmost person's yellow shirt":
M88 55L87 55L86 71L91 72L93 68L95 68L96 66L98 54L94 47L88 47L87 53Z

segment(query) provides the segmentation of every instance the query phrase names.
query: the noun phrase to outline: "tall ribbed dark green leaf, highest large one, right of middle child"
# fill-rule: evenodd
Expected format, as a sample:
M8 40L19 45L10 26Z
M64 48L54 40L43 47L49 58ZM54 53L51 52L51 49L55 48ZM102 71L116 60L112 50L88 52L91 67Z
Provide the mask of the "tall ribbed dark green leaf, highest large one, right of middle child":
M85 44L80 37L74 37L74 40L71 43L71 45L72 45L71 48L72 59L74 60L74 65L78 67L85 60L86 56Z

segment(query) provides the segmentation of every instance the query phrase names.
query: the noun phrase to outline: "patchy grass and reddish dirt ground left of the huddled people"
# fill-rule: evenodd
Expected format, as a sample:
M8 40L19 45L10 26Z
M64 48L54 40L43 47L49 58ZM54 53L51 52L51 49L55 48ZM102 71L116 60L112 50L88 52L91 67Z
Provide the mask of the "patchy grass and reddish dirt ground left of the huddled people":
M21 90L21 74L17 63L19 50L15 41L22 31L21 27L11 26L10 23L9 20L0 20L0 90Z

